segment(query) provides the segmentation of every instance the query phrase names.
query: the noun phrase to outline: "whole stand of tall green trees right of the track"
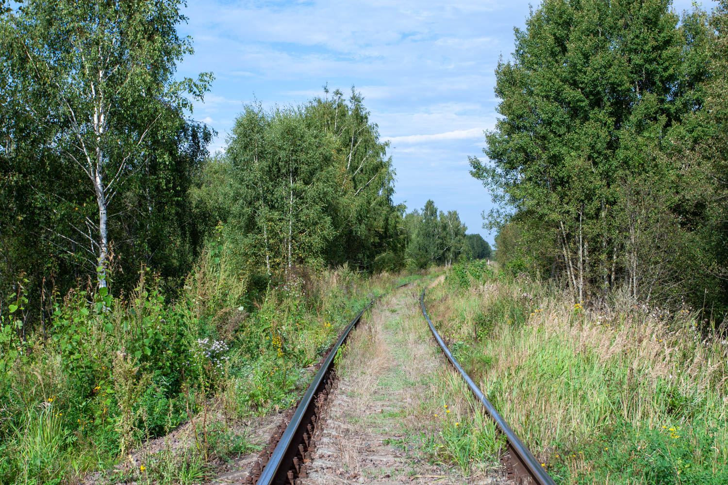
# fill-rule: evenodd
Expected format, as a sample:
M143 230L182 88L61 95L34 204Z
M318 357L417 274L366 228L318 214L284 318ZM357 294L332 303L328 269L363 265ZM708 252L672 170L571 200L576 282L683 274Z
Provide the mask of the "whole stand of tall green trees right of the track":
M496 69L472 176L501 259L574 298L728 302L728 2L545 0Z

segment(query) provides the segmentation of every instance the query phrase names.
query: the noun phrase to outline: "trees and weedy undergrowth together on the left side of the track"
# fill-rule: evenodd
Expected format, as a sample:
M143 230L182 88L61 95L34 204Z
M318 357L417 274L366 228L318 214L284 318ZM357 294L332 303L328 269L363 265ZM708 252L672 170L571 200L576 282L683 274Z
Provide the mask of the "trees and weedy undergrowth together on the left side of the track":
M250 105L210 158L181 5L0 1L1 483L201 480L405 267L363 98Z

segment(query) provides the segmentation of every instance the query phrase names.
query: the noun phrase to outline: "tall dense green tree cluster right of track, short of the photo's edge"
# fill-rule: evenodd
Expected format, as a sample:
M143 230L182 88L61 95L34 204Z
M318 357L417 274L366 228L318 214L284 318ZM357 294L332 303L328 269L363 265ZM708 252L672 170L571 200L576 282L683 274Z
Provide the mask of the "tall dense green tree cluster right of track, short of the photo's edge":
M471 173L501 204L491 226L518 220L526 260L555 263L578 298L679 294L670 257L690 238L664 154L703 104L707 31L699 10L680 23L669 7L546 0L496 69L502 118L486 135L490 163L470 159Z

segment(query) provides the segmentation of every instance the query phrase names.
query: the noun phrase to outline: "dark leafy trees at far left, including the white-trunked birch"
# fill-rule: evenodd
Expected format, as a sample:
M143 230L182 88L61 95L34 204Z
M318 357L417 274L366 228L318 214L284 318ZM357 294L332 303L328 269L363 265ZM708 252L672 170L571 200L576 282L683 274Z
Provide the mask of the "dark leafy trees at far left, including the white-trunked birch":
M0 14L0 309L27 278L24 324L99 266L116 294L140 265L170 290L197 258L186 192L212 133L186 111L211 76L175 79L192 53L179 7L33 0Z

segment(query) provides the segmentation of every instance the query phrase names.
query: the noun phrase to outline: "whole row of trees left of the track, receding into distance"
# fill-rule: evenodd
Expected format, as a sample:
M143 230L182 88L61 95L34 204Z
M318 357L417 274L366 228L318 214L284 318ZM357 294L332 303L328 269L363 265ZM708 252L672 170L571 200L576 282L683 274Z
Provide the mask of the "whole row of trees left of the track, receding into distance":
M214 76L176 76L194 53L180 7L0 3L0 317L15 308L20 334L70 289L129 294L140 270L174 298L210 252L257 289L296 265L487 257L456 212L395 204L388 143L353 88L247 105L210 156L191 103Z

